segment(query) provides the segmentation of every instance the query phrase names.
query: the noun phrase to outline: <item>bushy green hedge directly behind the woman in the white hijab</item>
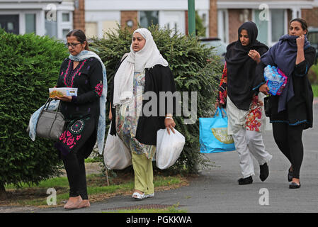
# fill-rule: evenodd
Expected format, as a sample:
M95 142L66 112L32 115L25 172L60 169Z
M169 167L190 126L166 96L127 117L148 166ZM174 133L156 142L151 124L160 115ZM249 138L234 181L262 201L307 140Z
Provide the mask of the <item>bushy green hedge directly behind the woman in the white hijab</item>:
M211 116L217 94L217 81L222 73L220 57L212 55L211 48L204 48L196 38L158 26L149 27L149 31L152 32L161 55L169 62L177 91L189 94L198 92L198 117ZM115 65L125 52L130 52L131 40L132 31L120 29L119 26L115 31L106 33L105 38L91 40L91 49L96 51L106 65L108 85L113 82ZM109 108L109 105L106 106ZM176 129L186 137L186 145L181 157L170 170L195 172L196 164L209 165L199 153L198 119L194 124L188 125L183 124L183 117L175 119Z

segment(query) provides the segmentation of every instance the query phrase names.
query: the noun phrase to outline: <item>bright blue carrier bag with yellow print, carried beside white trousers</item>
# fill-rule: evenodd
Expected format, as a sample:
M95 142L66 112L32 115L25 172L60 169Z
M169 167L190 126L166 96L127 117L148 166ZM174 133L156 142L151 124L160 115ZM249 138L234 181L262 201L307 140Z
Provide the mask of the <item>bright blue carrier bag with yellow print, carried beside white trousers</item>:
M200 153L219 153L235 150L232 135L227 135L227 113L217 108L212 118L199 118Z

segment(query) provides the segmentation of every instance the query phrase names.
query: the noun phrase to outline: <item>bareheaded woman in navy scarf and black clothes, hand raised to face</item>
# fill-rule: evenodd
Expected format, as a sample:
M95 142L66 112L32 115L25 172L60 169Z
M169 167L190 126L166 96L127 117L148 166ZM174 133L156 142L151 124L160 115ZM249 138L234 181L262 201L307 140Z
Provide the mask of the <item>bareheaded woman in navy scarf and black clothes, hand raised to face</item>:
M271 96L271 123L278 148L288 158L290 189L300 188L300 167L303 159L302 131L312 127L312 87L307 72L314 63L315 49L307 41L304 19L290 21L289 34L261 57L259 77L266 65L276 65L288 76L288 83L280 96ZM268 94L266 84L260 92Z

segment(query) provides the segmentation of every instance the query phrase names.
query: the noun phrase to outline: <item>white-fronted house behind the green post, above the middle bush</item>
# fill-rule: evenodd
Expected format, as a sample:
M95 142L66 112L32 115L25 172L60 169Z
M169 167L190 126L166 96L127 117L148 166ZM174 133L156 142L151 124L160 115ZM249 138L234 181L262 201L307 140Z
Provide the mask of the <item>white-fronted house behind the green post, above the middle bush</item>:
M217 36L217 1L195 0L206 29L206 36ZM187 0L86 0L86 34L102 37L104 31L120 26L137 28L137 23L147 27L151 23L175 28L188 33Z

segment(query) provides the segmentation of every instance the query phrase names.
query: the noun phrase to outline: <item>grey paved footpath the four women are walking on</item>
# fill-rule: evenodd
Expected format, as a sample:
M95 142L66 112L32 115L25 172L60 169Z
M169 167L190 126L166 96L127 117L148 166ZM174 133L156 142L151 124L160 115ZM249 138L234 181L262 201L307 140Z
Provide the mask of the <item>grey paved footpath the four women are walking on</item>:
M189 186L156 192L152 199L135 201L130 196L115 196L91 204L89 209L64 211L62 207L36 209L33 212L91 213L106 212L127 206L176 205L191 213L210 212L317 212L318 211L318 104L314 104L314 128L304 131L305 148L300 189L288 189L288 160L277 148L272 131L264 133L266 149L273 155L270 175L265 182L259 179L255 162L253 184L240 186L239 160L236 152L209 154L217 167L203 170ZM268 195L268 197L266 197ZM266 199L267 198L267 199ZM265 204L261 205L260 204ZM268 204L268 205L266 205ZM30 211L27 211L30 212Z

